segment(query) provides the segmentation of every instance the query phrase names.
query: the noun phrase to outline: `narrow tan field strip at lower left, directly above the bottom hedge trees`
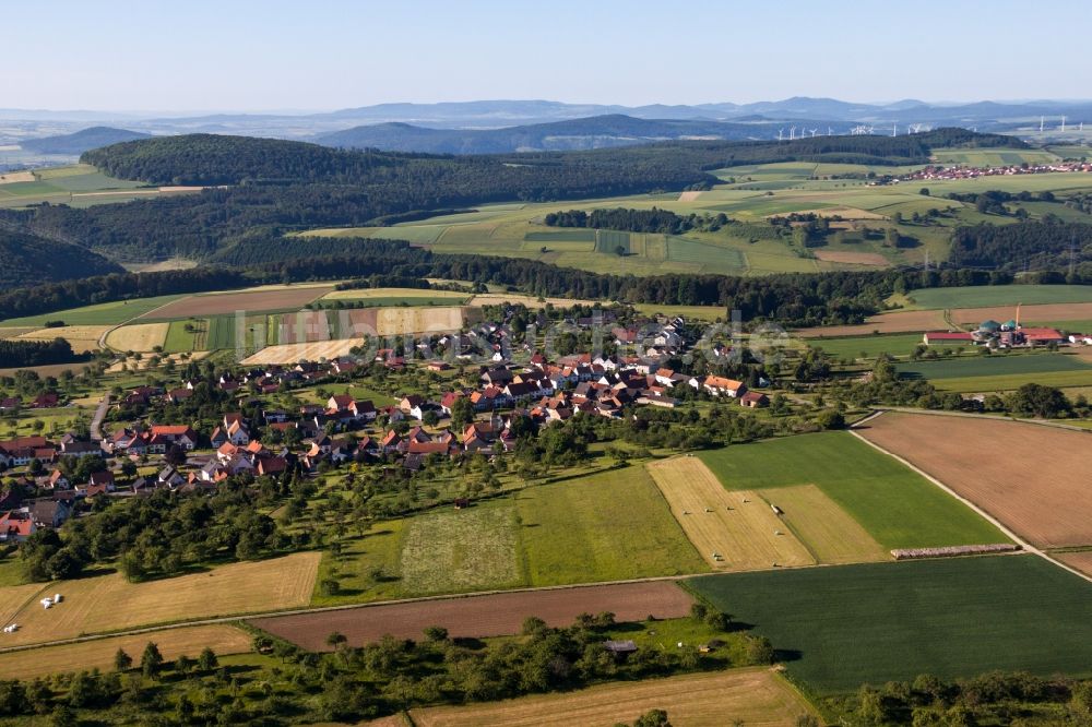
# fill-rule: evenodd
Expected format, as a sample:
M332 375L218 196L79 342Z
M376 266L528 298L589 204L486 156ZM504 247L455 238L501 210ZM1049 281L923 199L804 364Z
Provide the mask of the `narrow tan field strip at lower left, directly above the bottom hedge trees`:
M131 636L96 639L62 646L45 646L28 651L0 654L0 679L33 679L59 671L81 669L114 669L114 655L119 648L139 662L147 642L155 642L168 663L181 655L195 658L205 646L216 656L250 651L250 636L226 624L166 629ZM3 644L0 641L0 644Z

